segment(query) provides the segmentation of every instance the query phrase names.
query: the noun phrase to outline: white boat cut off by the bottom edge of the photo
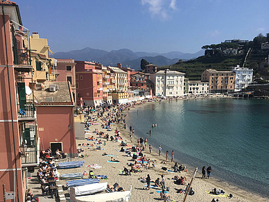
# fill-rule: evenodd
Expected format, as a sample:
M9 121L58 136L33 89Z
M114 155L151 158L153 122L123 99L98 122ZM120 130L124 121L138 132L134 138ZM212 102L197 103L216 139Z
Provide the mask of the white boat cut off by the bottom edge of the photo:
M119 202L119 201L129 201L131 196L131 191L125 192L111 192L105 194L95 194L89 196L76 196L77 202Z

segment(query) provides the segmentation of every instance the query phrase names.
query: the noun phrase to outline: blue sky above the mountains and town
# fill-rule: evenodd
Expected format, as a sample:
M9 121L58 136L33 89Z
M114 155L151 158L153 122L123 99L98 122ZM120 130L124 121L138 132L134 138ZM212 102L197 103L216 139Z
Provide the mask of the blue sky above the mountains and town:
M23 25L51 50L90 47L196 53L269 33L268 0L14 0Z

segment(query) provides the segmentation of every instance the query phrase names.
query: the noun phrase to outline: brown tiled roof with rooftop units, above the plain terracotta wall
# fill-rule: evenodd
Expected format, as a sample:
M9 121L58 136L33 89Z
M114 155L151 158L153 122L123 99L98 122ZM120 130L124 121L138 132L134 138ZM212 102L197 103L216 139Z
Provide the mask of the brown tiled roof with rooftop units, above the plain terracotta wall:
M55 92L49 91L49 85L58 85L58 90ZM69 84L66 81L46 81L44 87L40 90L35 90L35 103L36 106L39 105L73 105L73 101L70 94Z

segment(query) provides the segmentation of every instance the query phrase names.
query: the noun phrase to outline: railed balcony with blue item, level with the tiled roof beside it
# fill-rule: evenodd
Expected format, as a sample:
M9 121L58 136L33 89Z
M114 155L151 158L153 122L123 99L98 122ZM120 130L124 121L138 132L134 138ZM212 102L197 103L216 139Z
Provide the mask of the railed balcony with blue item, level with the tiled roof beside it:
M36 115L33 100L21 99L19 103L17 103L17 113L19 121L34 121L36 119Z

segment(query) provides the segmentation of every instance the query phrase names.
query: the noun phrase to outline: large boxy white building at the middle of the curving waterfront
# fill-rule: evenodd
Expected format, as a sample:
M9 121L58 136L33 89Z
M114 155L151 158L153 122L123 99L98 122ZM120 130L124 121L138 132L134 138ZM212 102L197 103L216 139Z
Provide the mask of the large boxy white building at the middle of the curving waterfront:
M184 73L169 69L151 74L156 96L182 96L184 94Z

